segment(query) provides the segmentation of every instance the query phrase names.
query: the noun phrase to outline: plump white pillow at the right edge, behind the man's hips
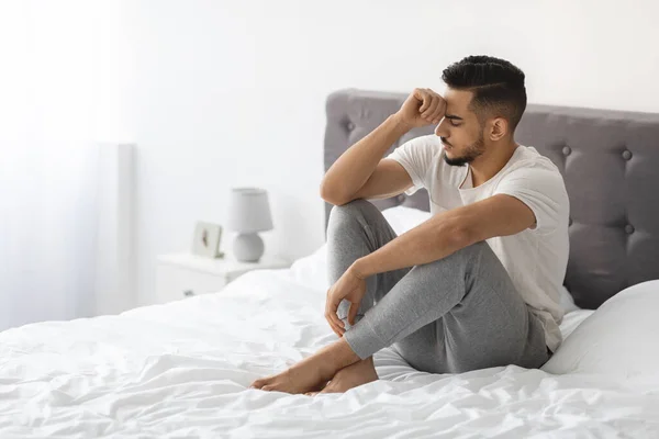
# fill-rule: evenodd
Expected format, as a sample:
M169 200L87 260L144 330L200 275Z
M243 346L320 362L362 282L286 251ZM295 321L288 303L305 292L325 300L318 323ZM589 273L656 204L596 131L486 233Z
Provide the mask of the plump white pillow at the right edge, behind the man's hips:
M604 302L566 338L541 368L554 374L657 376L659 280L625 289Z

